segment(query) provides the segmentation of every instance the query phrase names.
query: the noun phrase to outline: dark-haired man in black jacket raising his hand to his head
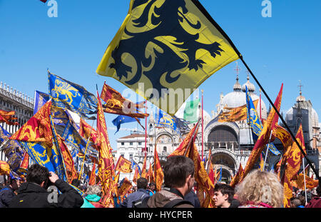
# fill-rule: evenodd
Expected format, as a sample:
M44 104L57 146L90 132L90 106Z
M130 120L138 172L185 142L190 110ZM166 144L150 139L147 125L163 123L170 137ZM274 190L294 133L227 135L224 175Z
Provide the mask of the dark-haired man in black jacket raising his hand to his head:
M49 192L46 189L56 186L61 194ZM13 198L9 207L13 208L78 208L83 205L81 195L68 183L58 178L54 172L34 164L29 167L26 183L22 183L18 195Z

